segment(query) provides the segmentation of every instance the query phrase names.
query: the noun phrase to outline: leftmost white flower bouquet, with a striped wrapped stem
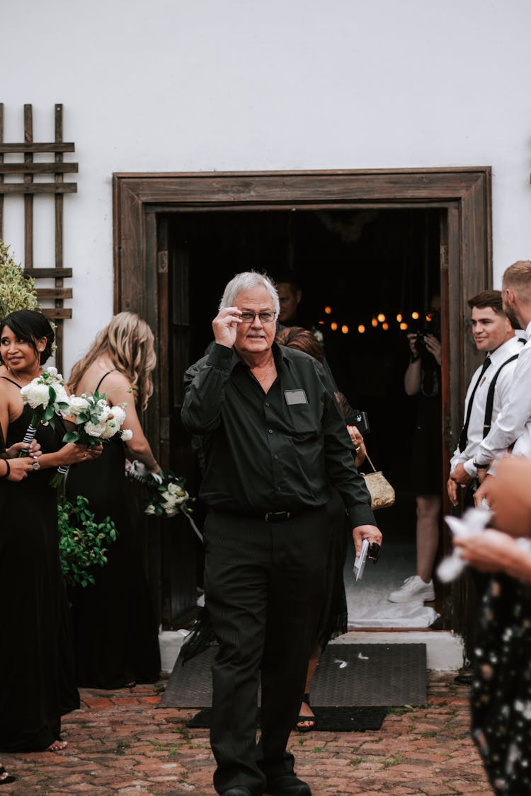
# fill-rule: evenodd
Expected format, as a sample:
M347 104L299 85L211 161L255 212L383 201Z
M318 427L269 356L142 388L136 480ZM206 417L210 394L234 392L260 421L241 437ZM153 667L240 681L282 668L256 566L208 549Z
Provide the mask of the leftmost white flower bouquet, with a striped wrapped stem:
M33 409L33 416L25 432L24 443L30 443L40 423L55 426L56 415L68 415L70 402L64 388L64 379L57 368L47 368L40 376L25 384L20 391L21 399ZM27 456L21 451L19 456Z

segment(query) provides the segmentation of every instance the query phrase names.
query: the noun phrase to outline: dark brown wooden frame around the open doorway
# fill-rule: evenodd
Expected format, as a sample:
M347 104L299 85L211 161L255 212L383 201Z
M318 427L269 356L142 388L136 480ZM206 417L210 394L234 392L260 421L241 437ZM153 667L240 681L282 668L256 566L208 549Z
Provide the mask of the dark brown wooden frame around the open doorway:
M444 462L462 424L464 393L478 356L466 342L467 297L492 283L490 166L459 168L113 174L115 311L146 318L158 347L154 396L144 418L146 435L163 466L188 472L189 443L174 419L182 401L181 376L192 361L197 316L189 314L186 241L168 226L174 214L289 213L303 211L434 210L440 213L440 283L443 317ZM209 263L205 281L220 270ZM234 265L234 259L231 260ZM225 266L224 266L225 267ZM248 263L245 263L248 267ZM230 269L230 274L236 270ZM227 277L228 278L228 277ZM226 279L221 279L225 283ZM171 286L170 286L171 283ZM170 291L171 287L171 291ZM195 310L194 310L195 311ZM210 318L209 318L210 322ZM194 330L191 329L194 326ZM170 376L173 379L170 381ZM396 439L400 446L402 439ZM181 467L182 464L182 467ZM377 462L381 466L381 462ZM450 506L445 505L445 511ZM184 520L182 521L185 522ZM149 528L147 527L149 525ZM146 521L146 570L162 625L170 628L197 599L193 533L178 521ZM190 542L190 540L192 540ZM445 534L445 544L447 534ZM467 583L447 589L445 626L474 626Z

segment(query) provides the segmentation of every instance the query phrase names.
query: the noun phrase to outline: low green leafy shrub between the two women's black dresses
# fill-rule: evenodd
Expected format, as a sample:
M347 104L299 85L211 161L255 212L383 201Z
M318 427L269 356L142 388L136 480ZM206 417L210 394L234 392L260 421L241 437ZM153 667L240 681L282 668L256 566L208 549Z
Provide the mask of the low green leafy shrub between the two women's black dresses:
M107 545L118 536L110 517L96 522L82 495L76 502L61 497L58 507L59 557L67 586L88 586L95 583L96 567L107 564Z

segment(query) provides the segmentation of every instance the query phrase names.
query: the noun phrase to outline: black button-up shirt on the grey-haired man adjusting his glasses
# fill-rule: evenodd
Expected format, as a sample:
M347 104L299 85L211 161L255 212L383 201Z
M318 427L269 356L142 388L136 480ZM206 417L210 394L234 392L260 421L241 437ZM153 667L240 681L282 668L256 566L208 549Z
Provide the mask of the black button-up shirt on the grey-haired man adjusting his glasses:
M204 435L201 498L242 514L301 511L325 505L331 483L353 527L376 525L322 365L276 343L273 355L278 377L267 393L225 345L186 371L182 422Z

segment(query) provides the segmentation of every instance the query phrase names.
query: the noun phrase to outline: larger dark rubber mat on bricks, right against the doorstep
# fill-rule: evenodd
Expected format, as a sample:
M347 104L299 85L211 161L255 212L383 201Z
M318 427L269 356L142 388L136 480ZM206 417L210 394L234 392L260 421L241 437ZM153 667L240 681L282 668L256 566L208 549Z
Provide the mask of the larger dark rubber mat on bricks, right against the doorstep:
M182 665L177 659L162 696L162 708L208 708L210 666L217 647ZM376 707L424 704L424 644L329 644L311 684L315 707Z

